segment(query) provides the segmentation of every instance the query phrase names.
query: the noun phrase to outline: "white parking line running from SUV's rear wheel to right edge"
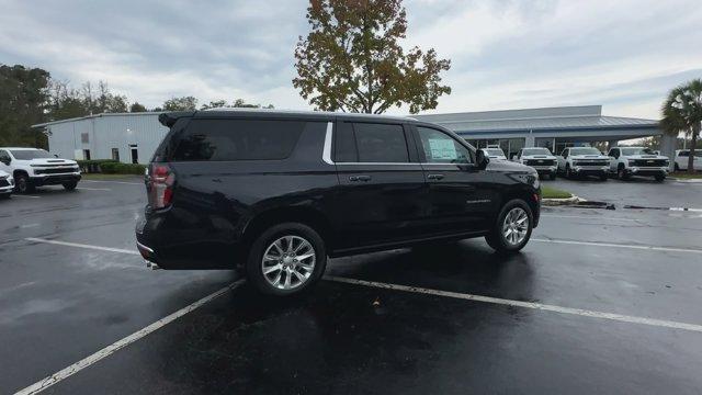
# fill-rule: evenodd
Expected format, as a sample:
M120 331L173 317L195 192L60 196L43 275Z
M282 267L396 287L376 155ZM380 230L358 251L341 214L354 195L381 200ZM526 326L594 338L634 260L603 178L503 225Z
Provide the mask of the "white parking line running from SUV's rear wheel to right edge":
M571 315L578 315L578 316L590 317L590 318L611 319L611 320L616 320L622 323L643 324L643 325L650 325L656 327L702 332L702 325L671 321L671 320L665 320L665 319L627 316L627 315L614 314L614 313L603 313L603 312L588 311L582 308L562 307L562 306L554 306L554 305L547 305L547 304L534 303L534 302L503 300L499 297L431 290L431 289L424 289L419 286L388 284L388 283L382 283L376 281L348 279L348 278L333 276L333 275L325 275L325 279L329 281L340 282L340 283L364 285L364 286L378 287L378 289L385 289L385 290L395 290L395 291L412 292L412 293L428 294L428 295L435 295L435 296L445 296L445 297L498 304L498 305L512 306L512 307L523 307L523 308L531 308L531 309L537 309L537 311L544 311L544 312L571 314Z

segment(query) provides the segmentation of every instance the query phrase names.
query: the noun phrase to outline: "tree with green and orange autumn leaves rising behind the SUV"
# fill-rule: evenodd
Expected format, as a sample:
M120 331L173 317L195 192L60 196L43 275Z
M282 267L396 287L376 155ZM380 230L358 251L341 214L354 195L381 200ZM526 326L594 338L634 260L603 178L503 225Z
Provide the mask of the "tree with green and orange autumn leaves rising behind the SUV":
M307 20L312 32L295 48L293 86L317 109L380 114L408 104L417 113L451 93L440 76L450 60L433 48L400 46L401 0L310 0Z

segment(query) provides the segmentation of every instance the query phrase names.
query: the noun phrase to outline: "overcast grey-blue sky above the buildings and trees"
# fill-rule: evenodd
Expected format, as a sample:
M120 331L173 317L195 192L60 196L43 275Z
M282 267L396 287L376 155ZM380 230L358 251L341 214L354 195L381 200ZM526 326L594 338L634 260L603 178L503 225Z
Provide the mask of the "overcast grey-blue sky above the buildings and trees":
M433 112L603 104L656 119L702 78L700 0L407 0L406 46L452 60ZM147 106L173 95L308 109L292 87L306 1L0 0L0 63ZM403 110L394 109L394 113Z

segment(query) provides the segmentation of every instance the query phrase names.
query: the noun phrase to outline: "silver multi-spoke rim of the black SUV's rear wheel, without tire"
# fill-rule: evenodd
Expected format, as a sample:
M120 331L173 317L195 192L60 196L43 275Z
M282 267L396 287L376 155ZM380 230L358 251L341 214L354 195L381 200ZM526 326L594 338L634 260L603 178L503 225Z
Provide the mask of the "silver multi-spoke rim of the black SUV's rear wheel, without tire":
M309 281L316 261L315 248L309 241L287 235L268 246L261 259L261 270L270 285L288 291Z

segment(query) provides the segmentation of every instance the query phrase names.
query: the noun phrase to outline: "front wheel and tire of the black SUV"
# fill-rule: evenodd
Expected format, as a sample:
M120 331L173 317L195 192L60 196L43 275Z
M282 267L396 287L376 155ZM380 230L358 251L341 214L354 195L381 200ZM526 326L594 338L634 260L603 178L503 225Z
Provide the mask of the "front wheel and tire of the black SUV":
M502 206L485 240L498 252L518 252L529 241L533 223L534 216L529 204L521 199L511 200Z

